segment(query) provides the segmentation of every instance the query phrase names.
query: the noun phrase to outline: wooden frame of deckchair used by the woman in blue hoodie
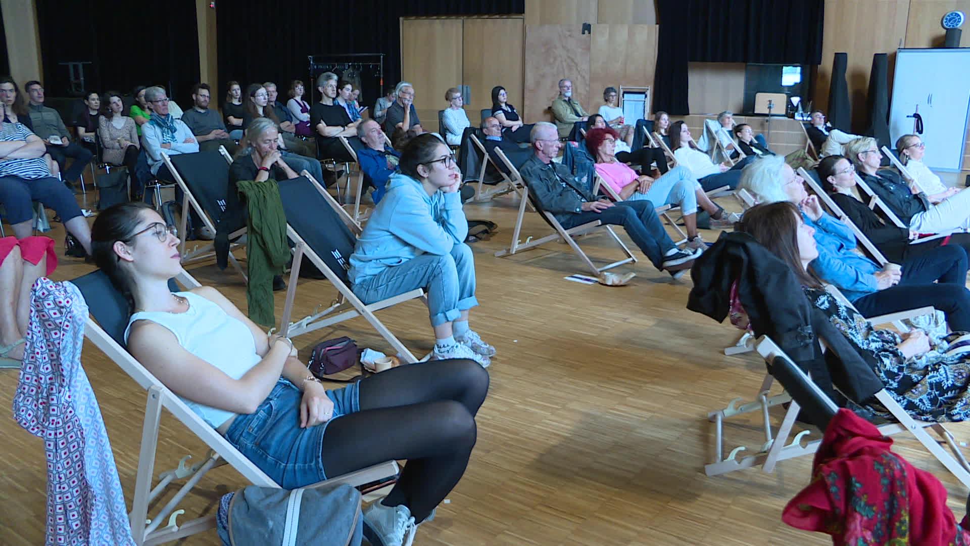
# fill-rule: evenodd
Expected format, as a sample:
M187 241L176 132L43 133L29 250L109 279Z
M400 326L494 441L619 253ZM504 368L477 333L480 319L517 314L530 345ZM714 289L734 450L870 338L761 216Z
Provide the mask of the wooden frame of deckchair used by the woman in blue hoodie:
M339 203L334 199L330 193L327 192L320 184L313 179L312 176L307 176L307 180L313 185L313 188L326 199L327 204L330 205L334 211L340 216L341 220L347 224L351 232L354 235L360 235L361 228L357 222L354 222L349 214ZM422 301L427 303L425 299L424 290L410 290L402 294L383 299L381 301L374 302L369 305L365 305L364 302L354 294L353 290L339 278L337 273L335 273L323 259L318 256L313 249L309 248L307 242L300 233L294 229L289 222L286 224L286 235L295 244L293 250L293 265L290 269L290 281L286 288L286 301L283 305L283 315L279 320L279 333L287 337L296 337L319 328L327 327L333 324L339 324L344 321L348 321L355 317L364 317L368 323L370 323L374 330L380 334L381 337L387 341L391 347L397 351L402 359L407 363L414 363L418 361L414 355L404 347L404 344L395 336L390 329L387 328L383 323L380 322L377 317L374 316L374 311L379 311L393 305L397 305L404 301L420 298ZM330 284L334 286L339 292L339 296L336 300L331 302L330 306L322 311L314 311L313 314L296 321L294 323L290 322L290 317L293 314L293 303L296 298L297 285L300 280L300 265L303 263L304 257L307 257L310 262L320 270L321 273L330 281ZM349 308L347 306L349 304Z

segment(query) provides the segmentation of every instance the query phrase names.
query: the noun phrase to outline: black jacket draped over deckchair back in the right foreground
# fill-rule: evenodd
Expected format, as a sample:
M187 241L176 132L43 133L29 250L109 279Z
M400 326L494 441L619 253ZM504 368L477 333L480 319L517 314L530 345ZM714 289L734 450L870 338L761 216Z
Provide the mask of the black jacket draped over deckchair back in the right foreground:
M833 384L859 403L883 388L842 333L805 297L788 265L750 235L722 233L695 260L691 278L687 308L719 323L727 317L730 287L737 280L738 298L755 334L770 337L833 399L841 398ZM824 357L820 338L830 349Z

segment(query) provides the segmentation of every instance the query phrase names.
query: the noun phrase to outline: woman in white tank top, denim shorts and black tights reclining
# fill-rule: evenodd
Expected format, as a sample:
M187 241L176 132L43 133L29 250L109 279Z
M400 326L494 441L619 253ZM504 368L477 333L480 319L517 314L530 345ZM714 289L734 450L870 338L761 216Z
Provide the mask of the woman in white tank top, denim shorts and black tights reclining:
M267 336L218 290L169 290L182 270L178 237L146 204L102 212L92 239L134 311L129 352L280 486L406 459L391 493L364 512L365 534L392 546L461 479L489 384L474 361L400 366L327 391L290 340Z

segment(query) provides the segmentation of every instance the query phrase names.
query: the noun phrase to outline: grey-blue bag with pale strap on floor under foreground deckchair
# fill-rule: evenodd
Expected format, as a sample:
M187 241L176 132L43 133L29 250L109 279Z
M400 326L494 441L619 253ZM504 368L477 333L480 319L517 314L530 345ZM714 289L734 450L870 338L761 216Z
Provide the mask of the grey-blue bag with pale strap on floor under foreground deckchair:
M361 494L346 484L249 486L223 495L216 521L224 546L360 546L364 530Z

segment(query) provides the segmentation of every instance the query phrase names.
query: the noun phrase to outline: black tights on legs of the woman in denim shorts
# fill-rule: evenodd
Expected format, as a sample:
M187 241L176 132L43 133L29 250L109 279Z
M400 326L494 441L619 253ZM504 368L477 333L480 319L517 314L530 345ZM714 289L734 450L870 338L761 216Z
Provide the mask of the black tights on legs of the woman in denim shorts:
M404 504L421 523L465 473L488 384L472 360L432 360L361 380L361 411L335 419L323 435L327 475L406 459L383 503Z

